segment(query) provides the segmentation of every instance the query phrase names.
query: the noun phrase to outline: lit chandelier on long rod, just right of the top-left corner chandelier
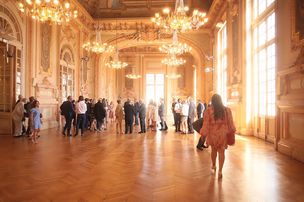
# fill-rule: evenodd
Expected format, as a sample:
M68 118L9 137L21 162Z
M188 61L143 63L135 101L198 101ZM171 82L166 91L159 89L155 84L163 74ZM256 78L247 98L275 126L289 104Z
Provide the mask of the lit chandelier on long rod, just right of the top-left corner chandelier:
M98 24L94 24L94 28L96 32L95 41L92 44L90 41L88 41L86 44L83 44L82 47L85 48L87 51L94 52L97 54L108 53L113 51L114 47L107 46L107 43L102 43L101 41L101 29L103 28L103 25L99 24L99 16L100 16L100 9L98 9Z

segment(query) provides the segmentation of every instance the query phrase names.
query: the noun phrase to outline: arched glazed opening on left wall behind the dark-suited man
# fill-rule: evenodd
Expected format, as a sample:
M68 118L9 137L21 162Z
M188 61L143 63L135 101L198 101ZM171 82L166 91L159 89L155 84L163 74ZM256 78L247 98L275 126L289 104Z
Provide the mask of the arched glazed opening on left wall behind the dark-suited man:
M75 63L72 49L69 45L62 46L60 51L59 69L59 102L62 103L66 97L74 97L75 92Z

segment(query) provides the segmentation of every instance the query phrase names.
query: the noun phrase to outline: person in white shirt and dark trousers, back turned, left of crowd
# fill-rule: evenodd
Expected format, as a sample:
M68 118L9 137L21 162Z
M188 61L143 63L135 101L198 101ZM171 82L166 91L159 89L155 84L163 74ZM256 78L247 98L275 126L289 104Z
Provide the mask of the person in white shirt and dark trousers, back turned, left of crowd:
M75 105L75 112L77 114L77 124L76 124L76 134L74 135L74 137L78 135L80 125L81 125L81 136L84 136L86 112L87 112L87 104L84 101L85 101L84 96L80 95Z

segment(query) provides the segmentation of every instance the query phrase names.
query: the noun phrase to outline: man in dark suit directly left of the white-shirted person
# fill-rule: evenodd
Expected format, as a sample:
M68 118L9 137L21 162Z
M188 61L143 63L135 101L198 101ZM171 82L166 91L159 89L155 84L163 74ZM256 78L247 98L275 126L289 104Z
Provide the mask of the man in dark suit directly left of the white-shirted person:
M61 115L64 115L64 117L65 117L65 125L64 125L63 131L62 131L62 135L65 135L65 130L67 129L67 136L72 136L70 133L73 112L74 112L72 100L73 100L73 97L71 95L69 95L67 97L67 101L64 101L62 103L62 105L60 106Z

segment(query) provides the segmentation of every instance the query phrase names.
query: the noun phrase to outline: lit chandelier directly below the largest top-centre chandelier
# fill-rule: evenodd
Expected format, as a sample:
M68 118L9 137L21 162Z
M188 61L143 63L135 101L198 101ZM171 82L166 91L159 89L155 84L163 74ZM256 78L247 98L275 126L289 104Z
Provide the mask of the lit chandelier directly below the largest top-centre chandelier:
M163 53L168 54L183 54L184 52L187 53L188 51L191 51L191 47L187 46L185 43L179 43L177 38L177 30L173 31L173 39L172 43L162 45L162 47L159 47L159 50Z

